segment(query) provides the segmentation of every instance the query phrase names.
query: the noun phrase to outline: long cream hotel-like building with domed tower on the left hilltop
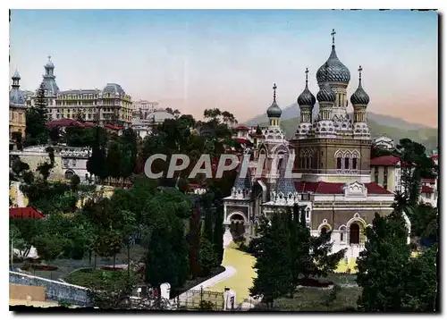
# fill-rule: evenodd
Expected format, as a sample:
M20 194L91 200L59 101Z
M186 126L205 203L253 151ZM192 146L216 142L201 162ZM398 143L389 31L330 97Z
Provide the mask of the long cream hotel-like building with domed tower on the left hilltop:
M79 88L61 91L55 81L55 63L48 56L42 84L48 111L53 120L77 119L127 126L132 120L132 101L121 85L107 83L104 88ZM27 93L28 105L34 105L37 92Z

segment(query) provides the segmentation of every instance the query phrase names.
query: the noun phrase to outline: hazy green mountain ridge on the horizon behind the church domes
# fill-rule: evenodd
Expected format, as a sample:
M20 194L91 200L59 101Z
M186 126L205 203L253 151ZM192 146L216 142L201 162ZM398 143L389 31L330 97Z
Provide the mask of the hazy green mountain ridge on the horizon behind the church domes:
M318 114L318 105L314 107L314 116ZM351 115L351 114L350 114ZM371 135L375 137L386 136L399 143L402 138L409 138L423 144L427 151L431 152L438 147L438 129L430 128L423 124L406 122L399 118L384 114L367 113L368 125ZM257 115L255 118L245 122L248 126L257 124L266 125L268 118L266 114ZM286 137L291 139L295 134L299 123L299 107L292 104L283 109L281 115L281 126Z

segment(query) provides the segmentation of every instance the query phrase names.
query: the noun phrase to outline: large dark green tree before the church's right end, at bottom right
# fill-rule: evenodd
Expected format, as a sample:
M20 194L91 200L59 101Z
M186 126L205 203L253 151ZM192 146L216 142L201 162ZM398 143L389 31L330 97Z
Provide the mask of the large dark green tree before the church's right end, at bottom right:
M358 286L363 288L358 307L363 311L403 311L407 296L405 270L409 265L408 231L401 213L382 217L375 214L367 228L365 250L357 259Z

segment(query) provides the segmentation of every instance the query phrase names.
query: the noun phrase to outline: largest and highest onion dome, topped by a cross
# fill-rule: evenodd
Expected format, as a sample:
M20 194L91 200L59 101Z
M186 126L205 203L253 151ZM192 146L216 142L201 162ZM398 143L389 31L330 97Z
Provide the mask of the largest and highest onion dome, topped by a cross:
M333 30L332 36L335 35ZM327 63L327 74L325 74L325 64ZM342 82L348 84L350 82L350 70L339 60L337 53L335 52L335 43L333 38L333 48L331 55L327 61L316 72L316 80L318 83L325 81L329 82Z

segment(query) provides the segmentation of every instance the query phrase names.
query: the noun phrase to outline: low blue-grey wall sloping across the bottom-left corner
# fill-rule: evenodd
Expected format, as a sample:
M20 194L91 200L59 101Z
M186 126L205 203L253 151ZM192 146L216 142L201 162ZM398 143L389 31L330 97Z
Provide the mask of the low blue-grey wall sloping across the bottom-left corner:
M46 299L53 301L64 301L72 305L91 306L88 289L77 285L57 282L29 274L9 272L9 282L16 284L34 285L45 287Z

